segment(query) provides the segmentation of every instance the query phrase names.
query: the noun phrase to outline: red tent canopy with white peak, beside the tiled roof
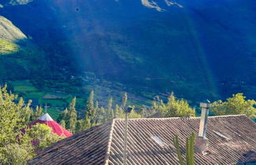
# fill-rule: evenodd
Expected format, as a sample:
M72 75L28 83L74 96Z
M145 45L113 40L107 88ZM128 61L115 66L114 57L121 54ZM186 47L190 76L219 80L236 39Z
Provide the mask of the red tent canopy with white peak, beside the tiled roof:
M58 136L70 137L72 135L68 130L66 130L61 125L59 125L57 122L55 122L55 120L52 119L51 116L49 116L48 113L44 114L39 119L36 119L32 123L30 123L28 125L28 127L32 127L36 123L46 124L48 127L51 127L52 132L54 134L58 134Z

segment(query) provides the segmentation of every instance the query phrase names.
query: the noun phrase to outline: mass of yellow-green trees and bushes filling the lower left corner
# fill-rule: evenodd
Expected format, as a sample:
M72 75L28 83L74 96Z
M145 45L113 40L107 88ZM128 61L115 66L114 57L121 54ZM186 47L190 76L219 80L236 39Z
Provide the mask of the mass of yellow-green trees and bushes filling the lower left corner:
M25 103L22 97L17 101L17 95L9 94L6 87L0 88L0 164L26 164L37 151L61 138L43 124L28 128L42 109L36 108L34 112L30 107L32 101ZM33 146L32 141L37 141L37 145Z

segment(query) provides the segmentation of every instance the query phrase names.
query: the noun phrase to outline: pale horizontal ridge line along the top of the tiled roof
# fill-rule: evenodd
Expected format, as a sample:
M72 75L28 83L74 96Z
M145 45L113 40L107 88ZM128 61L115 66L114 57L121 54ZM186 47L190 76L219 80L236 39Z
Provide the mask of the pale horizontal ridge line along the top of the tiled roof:
M246 115L244 115L244 114L239 114L239 115L226 115L226 116L209 116L209 118L224 118L224 117L236 117L236 116L246 116ZM199 119L199 118L201 118L201 116L198 116L198 117L190 117L190 118L188 118L188 119ZM145 120L148 120L148 119L159 119L159 120L161 120L161 119L184 119L183 117L168 117L168 118L136 118L136 119L129 119L129 120L143 120L143 119L145 119ZM119 119L114 119L114 120L124 120L124 119L121 119L121 118L119 118Z

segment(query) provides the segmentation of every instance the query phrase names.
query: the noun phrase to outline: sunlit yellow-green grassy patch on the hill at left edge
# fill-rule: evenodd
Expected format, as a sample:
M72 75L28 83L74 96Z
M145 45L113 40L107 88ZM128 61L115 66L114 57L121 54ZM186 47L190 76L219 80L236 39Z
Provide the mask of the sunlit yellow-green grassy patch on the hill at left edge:
M5 54L17 53L19 46L15 43L8 42L5 39L0 38L0 56Z

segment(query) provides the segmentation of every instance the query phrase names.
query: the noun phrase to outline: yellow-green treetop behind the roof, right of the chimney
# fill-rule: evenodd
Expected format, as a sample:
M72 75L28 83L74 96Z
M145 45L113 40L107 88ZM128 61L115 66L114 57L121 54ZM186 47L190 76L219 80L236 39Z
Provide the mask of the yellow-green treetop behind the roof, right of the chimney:
M243 94L233 94L229 97L227 101L215 101L213 102L213 108L211 109L213 113L217 116L222 115L235 115L235 114L245 114L250 118L256 117L256 101L246 100Z

